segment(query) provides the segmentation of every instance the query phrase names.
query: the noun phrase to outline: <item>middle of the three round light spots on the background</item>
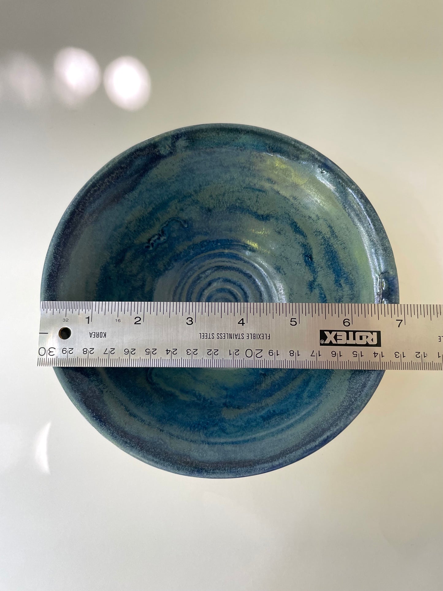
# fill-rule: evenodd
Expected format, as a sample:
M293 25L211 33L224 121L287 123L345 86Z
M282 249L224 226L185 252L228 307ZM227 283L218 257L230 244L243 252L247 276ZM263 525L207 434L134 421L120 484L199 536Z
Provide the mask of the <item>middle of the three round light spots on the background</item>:
M82 103L100 86L97 60L84 49L66 47L54 60L54 90L67 106Z

